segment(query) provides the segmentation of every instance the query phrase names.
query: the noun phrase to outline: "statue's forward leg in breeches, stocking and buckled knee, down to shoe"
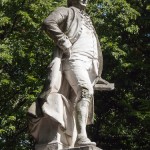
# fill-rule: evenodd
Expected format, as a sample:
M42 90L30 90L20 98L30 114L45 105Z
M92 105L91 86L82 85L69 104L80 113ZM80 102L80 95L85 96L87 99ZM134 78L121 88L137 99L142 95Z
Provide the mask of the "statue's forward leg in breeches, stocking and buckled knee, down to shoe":
M77 95L75 114L77 126L76 146L95 145L87 138L86 124L88 119L89 104L93 95L93 82L96 78L95 72L90 72L90 65L82 64L83 61L70 62L64 70L66 79Z

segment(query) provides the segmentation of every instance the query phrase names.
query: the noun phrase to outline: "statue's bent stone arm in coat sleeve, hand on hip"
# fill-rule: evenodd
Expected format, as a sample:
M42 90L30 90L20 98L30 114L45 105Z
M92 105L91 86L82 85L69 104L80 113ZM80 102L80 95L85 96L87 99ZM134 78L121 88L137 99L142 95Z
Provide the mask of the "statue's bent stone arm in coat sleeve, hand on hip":
M57 8L43 22L43 29L64 52L72 46L69 38L62 31L67 21L68 13L68 8Z

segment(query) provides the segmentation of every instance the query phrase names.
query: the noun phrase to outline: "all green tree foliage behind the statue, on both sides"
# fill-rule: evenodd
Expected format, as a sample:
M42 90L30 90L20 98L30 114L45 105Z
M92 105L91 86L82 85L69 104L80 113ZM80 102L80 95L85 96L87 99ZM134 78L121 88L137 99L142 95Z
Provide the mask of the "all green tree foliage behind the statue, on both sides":
M51 61L53 42L41 23L60 0L0 1L0 147L30 150L26 112L36 100ZM95 93L89 136L103 149L150 148L150 4L148 0L91 0L103 77L112 92Z

